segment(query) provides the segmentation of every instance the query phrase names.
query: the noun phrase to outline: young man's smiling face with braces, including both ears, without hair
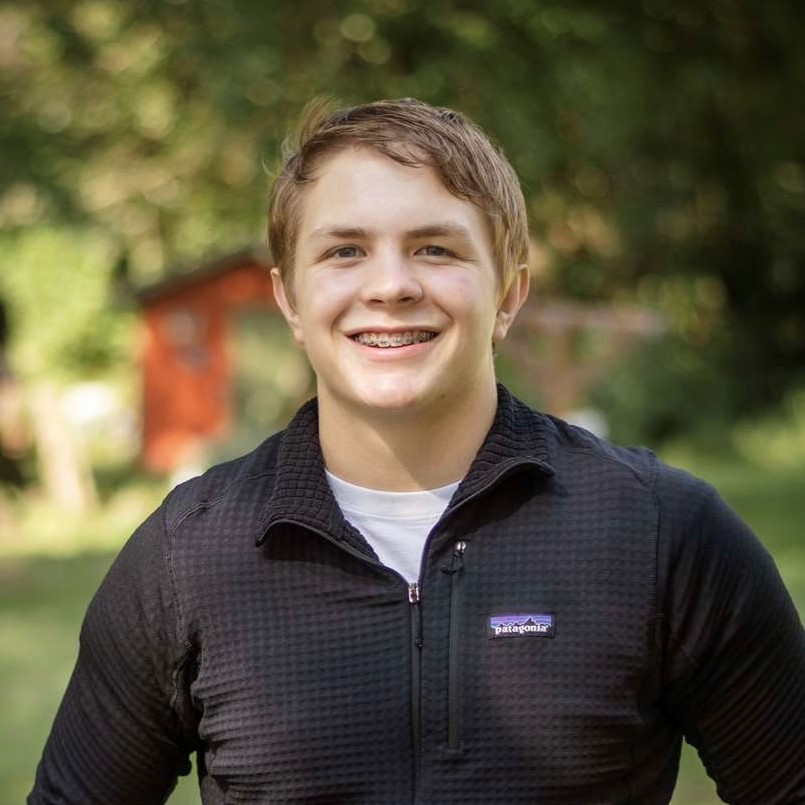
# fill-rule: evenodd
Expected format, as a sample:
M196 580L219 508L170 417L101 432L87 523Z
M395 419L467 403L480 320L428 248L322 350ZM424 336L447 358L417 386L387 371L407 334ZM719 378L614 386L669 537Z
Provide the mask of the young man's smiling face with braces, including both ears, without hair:
M480 211L433 169L365 148L332 156L304 190L293 287L272 273L321 410L359 417L439 416L488 394L492 342L527 286L500 301Z

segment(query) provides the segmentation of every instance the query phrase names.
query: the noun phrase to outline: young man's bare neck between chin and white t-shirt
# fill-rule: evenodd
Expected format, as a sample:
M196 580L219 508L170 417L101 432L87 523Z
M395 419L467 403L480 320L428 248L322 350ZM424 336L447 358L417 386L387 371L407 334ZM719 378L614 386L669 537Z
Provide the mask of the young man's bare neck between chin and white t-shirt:
M319 398L319 439L327 469L370 489L412 492L460 481L492 426L494 384L482 399L435 416L419 411L367 417Z

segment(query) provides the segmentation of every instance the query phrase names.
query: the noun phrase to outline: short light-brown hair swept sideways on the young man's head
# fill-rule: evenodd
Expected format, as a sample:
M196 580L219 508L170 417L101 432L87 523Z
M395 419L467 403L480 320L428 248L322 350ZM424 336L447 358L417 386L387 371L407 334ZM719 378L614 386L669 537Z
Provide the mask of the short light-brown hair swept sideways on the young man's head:
M502 150L459 112L413 98L375 101L332 111L314 100L302 116L296 142L286 142L284 165L268 207L271 264L290 290L302 194L331 156L370 148L402 165L432 167L454 196L474 204L489 222L501 293L528 259L525 199Z

